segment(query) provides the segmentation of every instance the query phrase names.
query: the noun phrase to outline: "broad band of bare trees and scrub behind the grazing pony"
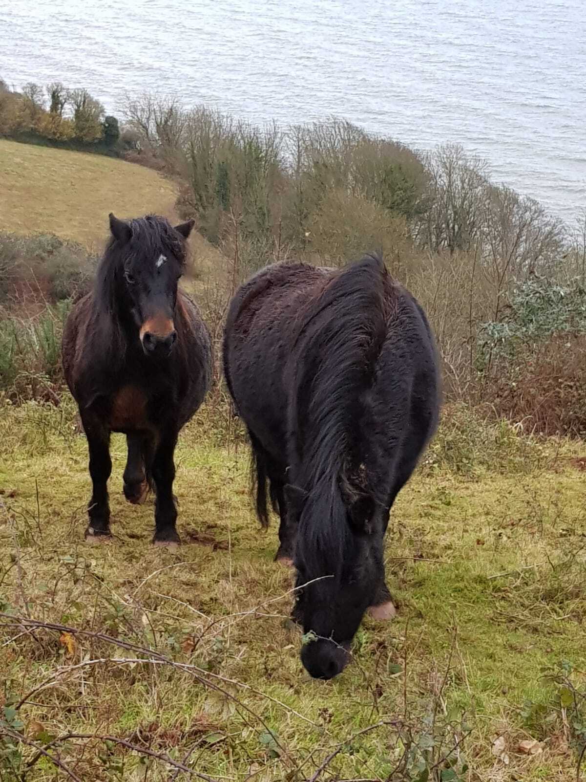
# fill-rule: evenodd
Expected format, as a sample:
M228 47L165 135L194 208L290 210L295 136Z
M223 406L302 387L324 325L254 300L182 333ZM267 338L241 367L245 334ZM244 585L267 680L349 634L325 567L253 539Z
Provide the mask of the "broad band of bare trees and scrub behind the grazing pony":
M136 160L177 178L182 216L226 259L227 289L204 300L219 333L235 282L264 264L382 249L431 318L449 400L586 433L584 209L564 224L459 145L420 152L338 118L259 127L154 95L124 115Z

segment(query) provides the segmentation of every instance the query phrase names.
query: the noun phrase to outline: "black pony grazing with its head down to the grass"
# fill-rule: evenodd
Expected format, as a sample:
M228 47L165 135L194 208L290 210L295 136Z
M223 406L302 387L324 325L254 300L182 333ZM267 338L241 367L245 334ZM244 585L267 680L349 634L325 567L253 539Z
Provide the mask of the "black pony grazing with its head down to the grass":
M223 363L252 444L259 519L268 482L276 559L292 559L306 585L294 610L314 633L303 665L330 679L366 609L395 612L384 533L438 421L427 318L377 256L341 271L277 264L230 303Z

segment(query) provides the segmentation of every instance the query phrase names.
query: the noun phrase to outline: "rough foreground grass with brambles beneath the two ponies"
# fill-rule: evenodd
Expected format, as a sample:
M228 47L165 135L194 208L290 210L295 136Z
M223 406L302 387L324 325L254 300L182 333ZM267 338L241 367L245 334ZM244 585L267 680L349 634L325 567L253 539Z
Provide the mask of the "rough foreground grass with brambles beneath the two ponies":
M210 416L180 440L184 545L166 551L152 504L123 501L122 439L116 538L90 547L72 405L0 409L0 779L577 778L576 447L452 414L389 526L398 617L366 619L352 665L319 682L298 658L276 526L250 511L245 447Z

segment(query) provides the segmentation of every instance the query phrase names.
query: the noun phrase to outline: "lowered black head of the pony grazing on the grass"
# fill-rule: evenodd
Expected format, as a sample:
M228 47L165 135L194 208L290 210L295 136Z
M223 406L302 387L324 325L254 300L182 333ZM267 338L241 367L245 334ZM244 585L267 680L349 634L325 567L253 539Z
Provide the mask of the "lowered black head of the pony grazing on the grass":
M352 638L384 584L383 522L371 497L348 498L318 483L289 489L298 509L295 619L306 634L302 663L316 679L331 679L349 660ZM333 519L330 529L324 519Z

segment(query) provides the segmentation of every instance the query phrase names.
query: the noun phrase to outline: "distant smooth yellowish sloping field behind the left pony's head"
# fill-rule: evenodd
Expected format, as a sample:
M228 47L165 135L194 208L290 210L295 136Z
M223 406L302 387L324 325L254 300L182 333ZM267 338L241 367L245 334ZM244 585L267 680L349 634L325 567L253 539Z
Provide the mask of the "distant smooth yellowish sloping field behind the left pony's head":
M102 248L109 212L176 217L176 188L155 171L114 158L0 139L0 229L52 233Z

